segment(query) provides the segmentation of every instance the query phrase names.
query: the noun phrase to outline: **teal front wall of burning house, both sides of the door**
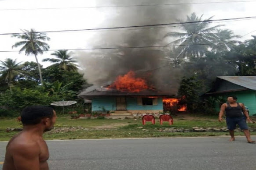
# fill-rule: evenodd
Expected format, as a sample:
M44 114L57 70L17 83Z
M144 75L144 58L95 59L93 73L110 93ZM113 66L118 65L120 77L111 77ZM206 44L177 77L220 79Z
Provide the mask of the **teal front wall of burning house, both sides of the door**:
M91 100L91 111L102 110L102 106L106 110L116 110L116 98L115 97L100 97ZM157 105L155 106L138 106L136 97L126 98L127 110L163 110L162 98L157 99Z

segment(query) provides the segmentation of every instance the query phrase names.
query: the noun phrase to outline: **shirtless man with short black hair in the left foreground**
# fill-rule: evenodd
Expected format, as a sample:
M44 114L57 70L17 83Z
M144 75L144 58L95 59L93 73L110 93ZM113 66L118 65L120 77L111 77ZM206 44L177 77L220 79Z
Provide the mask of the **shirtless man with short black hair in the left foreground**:
M26 107L21 113L23 130L7 144L3 170L49 170L43 133L53 128L56 118L51 107Z

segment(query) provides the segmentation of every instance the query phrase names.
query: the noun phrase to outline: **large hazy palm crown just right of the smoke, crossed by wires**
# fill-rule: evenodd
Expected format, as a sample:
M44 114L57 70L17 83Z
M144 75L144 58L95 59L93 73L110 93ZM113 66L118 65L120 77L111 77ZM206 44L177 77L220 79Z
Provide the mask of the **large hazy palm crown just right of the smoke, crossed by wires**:
M214 41L217 35L214 32L222 25L209 27L209 23L206 21L211 20L213 16L204 21L202 21L202 17L203 15L197 17L195 13L192 13L190 16L187 16L186 22L196 23L182 24L181 29L184 32L169 32L165 35L165 37L179 38L168 44L179 44L177 49L179 50L179 57L201 57L208 48L215 46Z

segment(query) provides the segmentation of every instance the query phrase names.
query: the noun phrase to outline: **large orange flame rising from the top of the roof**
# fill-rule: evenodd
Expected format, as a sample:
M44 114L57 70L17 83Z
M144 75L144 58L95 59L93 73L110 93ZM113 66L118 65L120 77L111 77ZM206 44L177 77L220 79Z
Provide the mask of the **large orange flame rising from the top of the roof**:
M124 76L118 76L116 81L109 88L115 88L121 92L140 92L145 89L150 89L146 85L146 80L143 78L135 78L135 73L129 71Z

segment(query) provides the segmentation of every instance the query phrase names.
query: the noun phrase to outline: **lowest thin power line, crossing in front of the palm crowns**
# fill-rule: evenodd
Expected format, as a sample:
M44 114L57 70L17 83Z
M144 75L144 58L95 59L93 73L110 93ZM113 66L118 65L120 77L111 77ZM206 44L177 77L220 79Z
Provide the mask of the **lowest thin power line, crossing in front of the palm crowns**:
M241 42L230 42L230 43L218 43L218 44L235 44ZM205 43L205 44L187 44L187 45L167 45L167 46L201 46L201 45L216 45L215 43ZM135 49L135 48L159 48L165 46L132 46L132 47L108 47L108 48L84 48L84 49L66 49L66 50L111 50L111 49ZM26 50L22 50L26 51ZM48 51L57 51L57 50L48 50ZM19 50L11 51L0 51L0 52L19 52Z

